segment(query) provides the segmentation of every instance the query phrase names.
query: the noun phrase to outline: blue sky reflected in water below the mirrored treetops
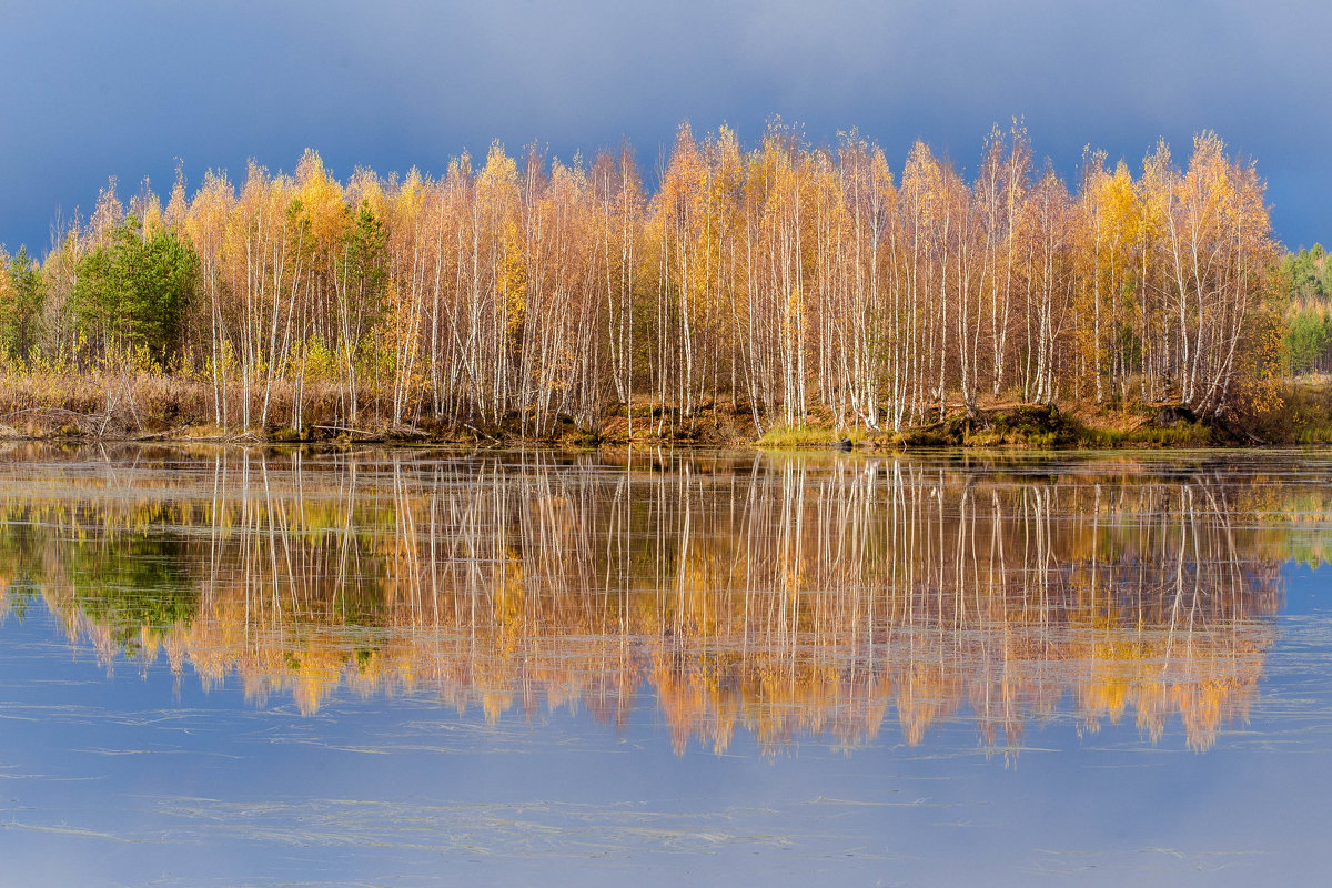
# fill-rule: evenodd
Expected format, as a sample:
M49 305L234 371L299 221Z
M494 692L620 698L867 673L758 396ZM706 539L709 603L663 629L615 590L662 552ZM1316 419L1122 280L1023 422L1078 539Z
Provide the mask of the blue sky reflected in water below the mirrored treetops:
M1332 867L1327 568L1288 562L1247 723L1188 750L1173 714L1080 730L1068 700L1011 758L966 707L763 754L673 751L647 692L488 724L429 694L204 692L71 646L36 602L0 627L0 884L1252 884Z

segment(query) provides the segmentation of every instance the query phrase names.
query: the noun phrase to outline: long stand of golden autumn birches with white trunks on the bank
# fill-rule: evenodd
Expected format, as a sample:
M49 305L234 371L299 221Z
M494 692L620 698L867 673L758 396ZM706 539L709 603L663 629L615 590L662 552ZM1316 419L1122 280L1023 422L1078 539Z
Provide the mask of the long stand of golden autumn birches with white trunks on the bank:
M308 150L209 172L165 204L112 181L0 276L15 371L151 369L206 385L226 430L346 426L658 434L734 410L900 430L982 403L1244 410L1280 371L1279 246L1251 161L1203 133L1072 186L1020 125L970 173L858 133L753 148L686 124L650 188L631 148L453 160L433 177Z

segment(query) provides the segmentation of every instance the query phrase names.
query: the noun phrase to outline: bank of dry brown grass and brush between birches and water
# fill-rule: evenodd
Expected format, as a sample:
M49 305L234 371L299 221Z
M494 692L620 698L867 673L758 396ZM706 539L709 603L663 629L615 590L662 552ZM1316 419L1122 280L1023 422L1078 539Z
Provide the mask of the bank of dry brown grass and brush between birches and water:
M293 393L265 393L269 421L252 409L244 423L217 422L208 381L140 374L9 374L0 377L0 438L61 441L233 441L253 443L402 443L502 446L542 443L590 446L713 446L767 450L1115 449L1225 447L1332 443L1332 379L1311 378L1284 387L1265 413L1240 418L1197 417L1172 403L1116 406L995 402L966 410L952 405L940 421L914 427L838 427L814 410L802 426L762 429L745 405L723 401L693 417L646 399L610 407L594 423L558 417L533 435L531 423L511 414L500 423L417 419L392 423L373 409L356 422L342 419L341 390L312 387L301 429L274 419L292 415ZM241 415L233 403L228 415Z

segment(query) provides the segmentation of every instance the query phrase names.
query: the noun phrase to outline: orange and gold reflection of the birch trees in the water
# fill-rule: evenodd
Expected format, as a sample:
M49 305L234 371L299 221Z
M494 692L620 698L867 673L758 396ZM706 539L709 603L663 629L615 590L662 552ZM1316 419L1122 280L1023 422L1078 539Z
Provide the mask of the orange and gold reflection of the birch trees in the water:
M678 751L959 715L1016 747L1062 711L1205 750L1275 642L1272 514L1323 510L1132 458L19 455L45 462L0 469L0 612L40 596L108 670L306 714L344 687L623 727L647 694Z

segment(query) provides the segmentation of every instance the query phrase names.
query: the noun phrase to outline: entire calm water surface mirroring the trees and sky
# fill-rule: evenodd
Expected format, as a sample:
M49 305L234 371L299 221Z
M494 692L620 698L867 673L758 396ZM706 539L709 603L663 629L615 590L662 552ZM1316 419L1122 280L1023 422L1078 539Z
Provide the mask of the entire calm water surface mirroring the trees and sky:
M1323 884L1332 455L11 449L0 884Z

